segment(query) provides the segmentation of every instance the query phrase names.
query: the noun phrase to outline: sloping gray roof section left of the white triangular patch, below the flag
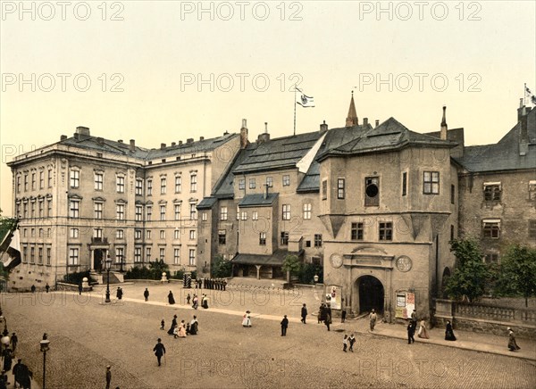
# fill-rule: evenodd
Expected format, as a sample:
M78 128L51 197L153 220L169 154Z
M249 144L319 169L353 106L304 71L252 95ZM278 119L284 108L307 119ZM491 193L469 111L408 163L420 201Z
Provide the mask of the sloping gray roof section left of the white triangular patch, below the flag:
M234 173L294 168L297 161L306 155L321 136L319 131L315 131L266 141L258 145L255 151L239 164Z

